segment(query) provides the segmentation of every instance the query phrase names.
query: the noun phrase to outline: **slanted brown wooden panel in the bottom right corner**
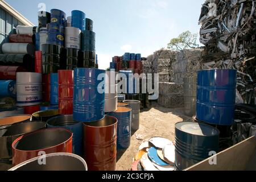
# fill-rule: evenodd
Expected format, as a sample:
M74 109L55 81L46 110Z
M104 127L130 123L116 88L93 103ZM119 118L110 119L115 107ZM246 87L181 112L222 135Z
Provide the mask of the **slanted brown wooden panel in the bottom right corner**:
M255 158L256 138L251 137L225 151L214 155L185 171L243 171L248 169L249 162ZM217 165L210 165L209 161L216 157ZM250 166L256 171L255 166Z

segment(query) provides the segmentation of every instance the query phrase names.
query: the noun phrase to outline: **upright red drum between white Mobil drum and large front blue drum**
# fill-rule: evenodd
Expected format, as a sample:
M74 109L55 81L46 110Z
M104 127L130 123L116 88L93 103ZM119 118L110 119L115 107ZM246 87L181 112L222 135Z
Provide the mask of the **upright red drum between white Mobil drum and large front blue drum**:
M59 114L73 114L73 70L59 71Z

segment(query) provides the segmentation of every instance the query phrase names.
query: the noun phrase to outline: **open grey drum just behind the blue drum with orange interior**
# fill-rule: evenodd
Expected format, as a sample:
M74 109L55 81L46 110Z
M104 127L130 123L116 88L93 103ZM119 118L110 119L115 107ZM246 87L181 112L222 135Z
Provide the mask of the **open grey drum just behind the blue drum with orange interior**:
M126 100L123 101L126 104L129 104L131 107L131 131L139 130L139 114L141 113L141 101L135 100Z

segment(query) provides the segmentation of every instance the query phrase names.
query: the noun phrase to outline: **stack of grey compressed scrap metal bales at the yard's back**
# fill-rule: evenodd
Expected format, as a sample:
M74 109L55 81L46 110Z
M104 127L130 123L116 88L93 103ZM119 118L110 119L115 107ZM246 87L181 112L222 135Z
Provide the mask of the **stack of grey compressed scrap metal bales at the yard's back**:
M203 49L170 51L160 49L142 61L144 73L159 74L158 104L164 107L184 107L183 78L196 77L201 69Z

